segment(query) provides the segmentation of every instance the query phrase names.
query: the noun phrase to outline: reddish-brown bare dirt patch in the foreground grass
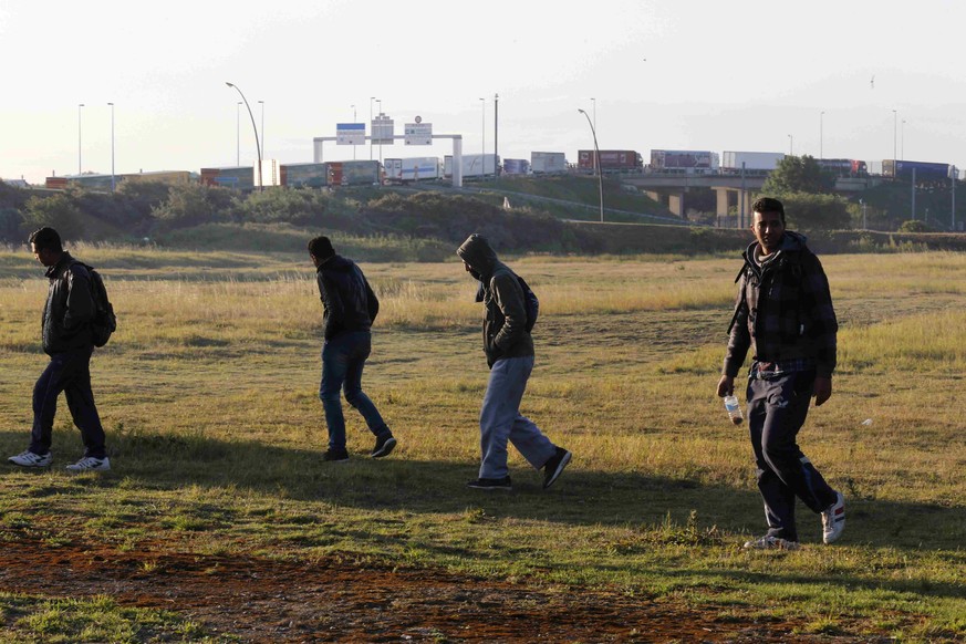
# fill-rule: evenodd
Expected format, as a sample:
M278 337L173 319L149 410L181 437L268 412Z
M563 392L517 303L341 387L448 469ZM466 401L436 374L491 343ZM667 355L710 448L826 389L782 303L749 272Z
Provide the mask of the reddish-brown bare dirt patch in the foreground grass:
M438 570L297 563L253 555L147 551L3 534L0 590L108 595L164 609L249 642L830 642L788 623L727 621L617 592L480 580ZM865 640L868 641L868 640Z

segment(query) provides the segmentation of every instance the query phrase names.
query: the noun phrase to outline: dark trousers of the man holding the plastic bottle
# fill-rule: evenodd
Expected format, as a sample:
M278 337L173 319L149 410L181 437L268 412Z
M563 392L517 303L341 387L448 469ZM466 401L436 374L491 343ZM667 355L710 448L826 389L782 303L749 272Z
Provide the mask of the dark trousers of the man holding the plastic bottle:
M748 383L748 429L765 500L768 534L798 541L794 499L813 512L835 502L835 491L796 443L809 413L814 372L792 372Z

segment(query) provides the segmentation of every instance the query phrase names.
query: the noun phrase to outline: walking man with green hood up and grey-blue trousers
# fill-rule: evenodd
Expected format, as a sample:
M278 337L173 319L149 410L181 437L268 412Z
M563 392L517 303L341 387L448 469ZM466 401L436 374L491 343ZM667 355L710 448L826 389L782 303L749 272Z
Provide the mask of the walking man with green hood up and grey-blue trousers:
M466 271L480 281L477 301L482 301L484 352L490 366L480 412L479 478L468 486L484 490L510 490L507 442L536 469L543 469L543 488L557 480L570 463L571 453L558 447L529 418L520 414L520 401L533 371L533 339L527 331L523 290L517 276L497 259L486 238L470 235L456 251Z

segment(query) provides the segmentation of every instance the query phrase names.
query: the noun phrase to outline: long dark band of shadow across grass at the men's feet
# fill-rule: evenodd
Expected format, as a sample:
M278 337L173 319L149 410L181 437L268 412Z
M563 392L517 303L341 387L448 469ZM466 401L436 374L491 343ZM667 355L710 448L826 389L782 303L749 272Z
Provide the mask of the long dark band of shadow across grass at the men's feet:
M0 477L19 469L6 459L21 451L28 439L27 432L0 432ZM387 458L356 453L341 464L322 461L321 448L272 447L201 435L125 433L108 436L108 445L114 469L100 476L96 484L107 488L122 481L127 489L237 488L360 509L419 513L481 510L497 517L581 526L640 527L665 521L684 526L696 512L698 527L737 534L764 531L765 524L761 500L754 489L646 472L593 471L582 466L580 454L549 490L542 489L542 472L516 459L510 472L513 490L506 492L467 488L466 482L477 475L475 461L414 460L406 457L405 444ZM81 456L77 433L56 429L53 451L51 474L70 476L62 468ZM966 533L966 512L960 507L848 496L846 507L845 543L956 550ZM819 517L801 503L798 521L803 543L821 541Z

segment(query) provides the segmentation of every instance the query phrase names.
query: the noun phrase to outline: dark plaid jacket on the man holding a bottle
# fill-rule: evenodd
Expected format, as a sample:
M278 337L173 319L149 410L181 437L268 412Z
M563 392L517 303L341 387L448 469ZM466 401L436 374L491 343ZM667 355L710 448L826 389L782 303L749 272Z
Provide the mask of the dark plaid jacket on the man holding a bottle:
M754 347L757 361L810 359L818 376L831 377L839 323L819 258L803 236L789 231L764 264L756 260L757 250L756 241L744 253L724 373L737 376Z

